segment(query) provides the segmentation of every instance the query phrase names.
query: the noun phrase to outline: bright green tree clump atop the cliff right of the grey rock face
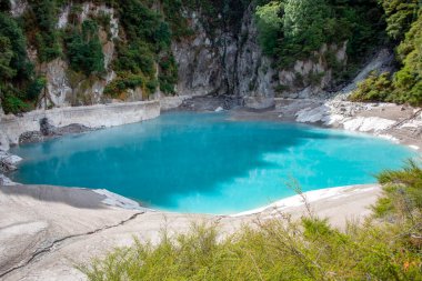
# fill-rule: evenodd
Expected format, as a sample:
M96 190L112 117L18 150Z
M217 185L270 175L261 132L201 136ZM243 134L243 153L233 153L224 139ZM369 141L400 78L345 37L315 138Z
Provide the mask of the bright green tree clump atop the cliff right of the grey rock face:
M373 46L383 42L382 12L375 0L259 1L255 16L261 47L281 69L312 59L326 43L348 42L349 66L333 62L336 78L350 72ZM336 63L336 64L335 64Z

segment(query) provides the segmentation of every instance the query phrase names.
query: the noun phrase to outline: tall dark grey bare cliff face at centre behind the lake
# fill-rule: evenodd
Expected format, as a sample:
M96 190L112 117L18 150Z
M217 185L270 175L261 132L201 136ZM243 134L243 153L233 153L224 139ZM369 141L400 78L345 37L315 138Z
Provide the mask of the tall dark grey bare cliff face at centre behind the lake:
M213 38L207 34L200 14L192 12L188 17L197 36L172 46L179 66L178 92L229 94L234 96L239 104L273 106L275 72L258 44L253 7L244 11L240 30L217 30Z

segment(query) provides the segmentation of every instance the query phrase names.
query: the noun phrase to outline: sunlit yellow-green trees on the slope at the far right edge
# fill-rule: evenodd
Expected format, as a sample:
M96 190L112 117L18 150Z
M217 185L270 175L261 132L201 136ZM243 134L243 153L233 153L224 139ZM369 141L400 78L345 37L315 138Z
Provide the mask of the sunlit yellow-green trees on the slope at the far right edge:
M392 101L422 106L422 3L381 1L386 32L396 53L396 72L372 73L353 92L354 101Z

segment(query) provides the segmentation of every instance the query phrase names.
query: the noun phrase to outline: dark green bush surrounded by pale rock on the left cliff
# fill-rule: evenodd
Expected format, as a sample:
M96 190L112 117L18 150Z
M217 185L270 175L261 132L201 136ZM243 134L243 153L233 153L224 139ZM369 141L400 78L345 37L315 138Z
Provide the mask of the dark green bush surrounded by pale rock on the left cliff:
M74 71L89 76L104 70L104 54L94 21L83 21L81 30L78 27L68 29L66 48L70 67Z

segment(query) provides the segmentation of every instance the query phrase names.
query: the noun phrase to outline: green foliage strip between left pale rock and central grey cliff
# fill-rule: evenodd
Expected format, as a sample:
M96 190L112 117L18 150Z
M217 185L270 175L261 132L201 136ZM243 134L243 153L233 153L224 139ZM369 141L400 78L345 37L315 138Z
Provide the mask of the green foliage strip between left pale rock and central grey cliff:
M180 1L163 2L164 10L180 7ZM175 63L171 68L164 68L161 66L162 59L160 60L160 58L173 60L170 50L171 29L175 28L177 22L184 21L179 18L180 14L174 12L172 16L168 16L171 19L169 24L162 14L150 9L145 1L140 0L124 1L119 3L118 9L122 16L121 23L124 27L127 40L118 42L118 58L113 62L118 81L107 88L107 93L119 97L125 89L133 89L133 77L142 78L135 84L149 93L157 90L158 82L164 93L172 93L177 82L177 78L174 79ZM184 29L185 27L180 28ZM182 33L180 32L179 36ZM157 64L160 66L158 81L155 79ZM130 80L124 81L127 78Z

